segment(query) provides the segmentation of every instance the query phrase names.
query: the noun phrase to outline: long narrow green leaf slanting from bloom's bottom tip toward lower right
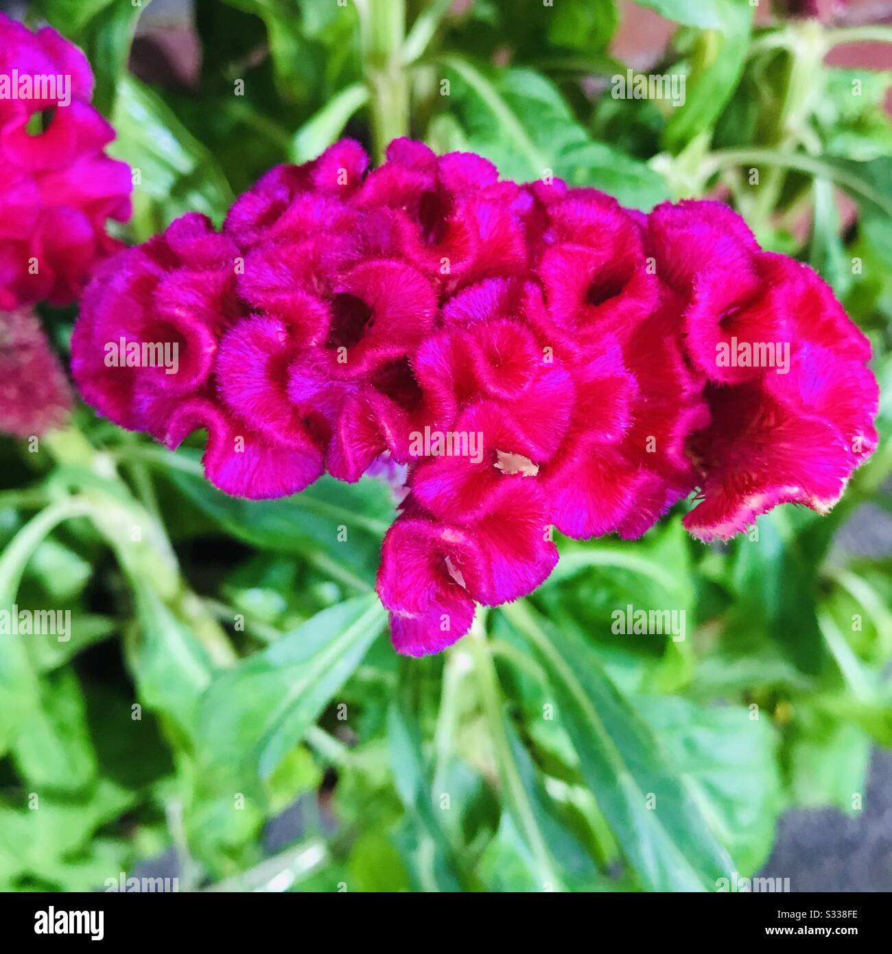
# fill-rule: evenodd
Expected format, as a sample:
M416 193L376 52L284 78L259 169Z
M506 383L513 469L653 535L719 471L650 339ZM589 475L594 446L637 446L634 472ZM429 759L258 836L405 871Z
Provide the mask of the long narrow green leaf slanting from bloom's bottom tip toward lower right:
M715 890L732 861L645 722L577 639L524 604L502 612L529 639L550 677L579 771L645 887Z

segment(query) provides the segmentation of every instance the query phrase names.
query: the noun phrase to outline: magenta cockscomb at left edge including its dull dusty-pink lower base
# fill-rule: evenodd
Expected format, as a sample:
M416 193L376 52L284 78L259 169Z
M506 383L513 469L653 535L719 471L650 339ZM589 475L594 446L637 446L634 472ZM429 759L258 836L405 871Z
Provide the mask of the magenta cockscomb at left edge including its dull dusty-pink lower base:
M31 310L76 301L120 247L131 173L104 153L114 130L91 105L87 58L49 27L0 13L0 432L61 424L70 389Z

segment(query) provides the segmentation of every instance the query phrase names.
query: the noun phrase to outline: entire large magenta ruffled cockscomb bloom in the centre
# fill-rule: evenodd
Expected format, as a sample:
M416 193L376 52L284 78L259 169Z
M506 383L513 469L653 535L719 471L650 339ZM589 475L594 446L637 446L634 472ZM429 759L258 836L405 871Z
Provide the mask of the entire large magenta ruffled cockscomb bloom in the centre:
M378 592L401 653L534 590L552 528L725 539L825 511L873 451L870 345L819 277L715 202L645 216L481 156L342 140L100 269L73 337L82 393L176 447L208 432L227 493L280 497L384 452L407 494ZM176 374L108 342L176 343ZM157 353L157 352L156 352ZM134 362L136 365L137 362Z

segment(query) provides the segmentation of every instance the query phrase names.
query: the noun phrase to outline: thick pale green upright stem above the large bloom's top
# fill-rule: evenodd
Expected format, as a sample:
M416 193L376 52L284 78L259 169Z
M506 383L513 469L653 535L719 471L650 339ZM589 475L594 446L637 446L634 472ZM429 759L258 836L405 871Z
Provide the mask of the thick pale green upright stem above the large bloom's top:
M356 0L372 149L377 162L392 139L409 132L409 87L403 64L405 0Z

